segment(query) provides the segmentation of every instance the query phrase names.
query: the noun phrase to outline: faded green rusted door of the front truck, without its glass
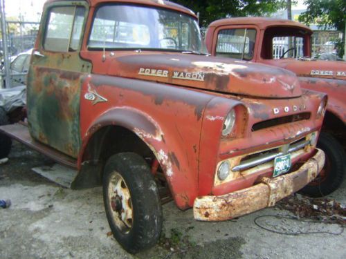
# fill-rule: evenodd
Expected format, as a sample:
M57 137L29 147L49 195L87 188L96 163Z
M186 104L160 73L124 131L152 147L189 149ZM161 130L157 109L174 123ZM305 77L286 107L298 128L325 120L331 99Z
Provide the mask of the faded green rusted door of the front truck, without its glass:
M50 3L73 6L77 2ZM79 5L86 8L85 2ZM71 157L78 157L80 137L80 91L82 79L91 73L91 64L79 52L49 52L42 47L46 8L39 29L39 53L33 55L28 73L28 121L31 135ZM86 19L84 21L85 26ZM84 28L83 30L84 31Z

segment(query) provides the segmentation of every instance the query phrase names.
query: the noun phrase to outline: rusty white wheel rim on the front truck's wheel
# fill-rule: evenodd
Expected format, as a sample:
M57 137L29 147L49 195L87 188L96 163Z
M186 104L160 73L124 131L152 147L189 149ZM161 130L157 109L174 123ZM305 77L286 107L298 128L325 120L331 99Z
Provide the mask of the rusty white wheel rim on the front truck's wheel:
M116 227L128 233L133 224L131 194L124 178L116 171L111 173L109 180L108 200Z

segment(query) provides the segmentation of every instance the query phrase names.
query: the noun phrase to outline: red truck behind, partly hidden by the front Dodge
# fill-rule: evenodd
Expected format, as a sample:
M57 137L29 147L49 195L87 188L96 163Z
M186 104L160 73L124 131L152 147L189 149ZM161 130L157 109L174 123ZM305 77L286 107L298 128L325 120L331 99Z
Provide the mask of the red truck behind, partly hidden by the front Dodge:
M286 19L230 18L210 23L206 46L213 56L291 70L302 88L328 95L317 145L325 151L326 163L320 176L303 190L319 197L338 189L345 175L346 62L312 59L311 35L309 27Z

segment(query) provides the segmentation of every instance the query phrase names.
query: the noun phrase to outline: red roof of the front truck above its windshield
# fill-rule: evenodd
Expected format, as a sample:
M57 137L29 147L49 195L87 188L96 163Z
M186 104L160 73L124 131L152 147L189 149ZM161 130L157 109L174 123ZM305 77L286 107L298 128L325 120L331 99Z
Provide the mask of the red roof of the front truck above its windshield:
M59 2L66 0L47 0L46 3ZM75 0L67 0L67 1L75 1ZM172 3L170 1L164 0L84 0L89 3L90 6L97 6L100 3L137 3L143 4L145 6L155 6L155 7L163 7L171 10L175 10L178 12L185 12L187 15L191 15L192 17L197 19L197 15L192 12L192 10L185 8L177 3Z

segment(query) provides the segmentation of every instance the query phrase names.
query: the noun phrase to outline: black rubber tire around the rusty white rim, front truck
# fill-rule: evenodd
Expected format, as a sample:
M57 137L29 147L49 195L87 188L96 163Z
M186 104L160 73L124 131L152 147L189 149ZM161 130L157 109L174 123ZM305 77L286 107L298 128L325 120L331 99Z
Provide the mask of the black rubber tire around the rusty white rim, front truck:
M133 225L128 233L122 233L111 216L107 186L114 171L125 180L131 195ZM104 166L103 200L113 236L127 252L137 253L158 242L163 218L161 200L156 182L143 157L135 153L118 153L109 157Z

